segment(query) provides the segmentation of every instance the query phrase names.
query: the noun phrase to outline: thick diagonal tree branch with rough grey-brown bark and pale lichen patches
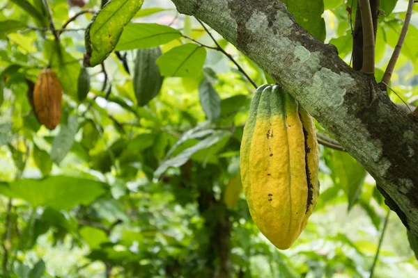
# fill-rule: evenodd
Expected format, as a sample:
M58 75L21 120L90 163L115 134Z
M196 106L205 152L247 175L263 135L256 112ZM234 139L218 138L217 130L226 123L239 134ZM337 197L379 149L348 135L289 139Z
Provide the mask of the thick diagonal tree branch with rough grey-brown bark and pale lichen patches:
M254 60L334 134L418 234L418 122L373 77L295 23L278 0L172 0Z

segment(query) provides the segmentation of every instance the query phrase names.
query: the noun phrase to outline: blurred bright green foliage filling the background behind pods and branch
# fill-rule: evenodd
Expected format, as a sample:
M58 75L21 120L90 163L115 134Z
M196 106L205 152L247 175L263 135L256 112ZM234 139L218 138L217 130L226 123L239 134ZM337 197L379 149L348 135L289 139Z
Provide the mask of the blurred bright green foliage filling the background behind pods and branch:
M203 58L203 72L168 74L160 94L138 107L132 86L137 52L121 52L131 74L112 53L104 61L107 81L100 65L88 68L91 90L80 103L76 84L84 28L92 15L77 17L67 27L82 30L64 31L60 51L52 32L42 31L49 26L42 1L29 3L40 19L23 10L22 1L0 1L4 277L369 277L388 208L351 156L320 146L316 211L290 250L276 250L258 232L240 190L240 136L254 88L233 63L206 49L206 56L195 57ZM79 10L101 5L93 0L81 9L63 0L48 3L56 28ZM324 3L325 42L336 45L350 63L346 7L351 1ZM417 7L391 84L415 105ZM381 0L381 8L377 79L396 44L406 1ZM171 25L213 45L201 25L178 15L170 1L145 1L133 21ZM219 35L215 38L258 85L267 82L251 60ZM161 48L165 54L185 43L194 42L180 37ZM49 62L65 92L61 126L54 131L38 124L28 98L28 81L35 82ZM199 90L202 83L206 89ZM418 275L405 227L394 213L374 275Z

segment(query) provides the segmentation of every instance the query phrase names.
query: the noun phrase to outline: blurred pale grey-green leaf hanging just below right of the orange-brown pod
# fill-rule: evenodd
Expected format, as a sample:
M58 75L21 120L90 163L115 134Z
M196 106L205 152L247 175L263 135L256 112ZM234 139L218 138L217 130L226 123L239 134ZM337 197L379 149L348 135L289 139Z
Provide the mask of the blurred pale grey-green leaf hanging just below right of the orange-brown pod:
M52 141L51 159L54 163L60 163L70 152L74 136L78 131L78 118L76 115L68 117L68 124L61 124L59 134Z

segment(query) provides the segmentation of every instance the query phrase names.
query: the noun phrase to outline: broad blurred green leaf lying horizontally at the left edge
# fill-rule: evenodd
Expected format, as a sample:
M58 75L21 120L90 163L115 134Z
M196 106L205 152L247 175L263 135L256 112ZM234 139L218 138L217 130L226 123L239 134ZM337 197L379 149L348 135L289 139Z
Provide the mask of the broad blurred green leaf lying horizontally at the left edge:
M107 186L100 181L65 176L0 183L2 195L24 199L33 207L49 206L56 210L88 205L106 192Z

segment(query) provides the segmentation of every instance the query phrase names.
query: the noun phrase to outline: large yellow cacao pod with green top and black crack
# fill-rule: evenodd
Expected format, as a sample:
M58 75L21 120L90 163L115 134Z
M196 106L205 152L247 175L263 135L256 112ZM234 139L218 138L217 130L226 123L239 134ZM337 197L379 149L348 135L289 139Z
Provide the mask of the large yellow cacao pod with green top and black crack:
M314 121L279 85L262 85L251 101L240 151L251 217L286 250L300 236L318 197Z

